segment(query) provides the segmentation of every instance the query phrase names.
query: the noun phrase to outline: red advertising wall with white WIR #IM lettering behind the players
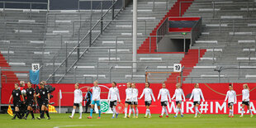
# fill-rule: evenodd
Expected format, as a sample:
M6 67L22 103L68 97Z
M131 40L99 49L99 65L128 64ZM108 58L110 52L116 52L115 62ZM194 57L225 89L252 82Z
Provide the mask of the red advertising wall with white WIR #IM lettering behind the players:
M250 88L250 99L251 99L251 107L254 113L256 113L254 105L256 105L256 83L248 83ZM55 92L53 92L54 97L50 99L50 102L55 102L55 106L59 106L59 90L61 89L62 97L61 100L61 106L63 107L71 107L73 106L73 84L66 83L66 84L50 84L53 87L55 87ZM99 84L102 88L102 99L107 99L108 94L108 88L111 88L111 83L101 83ZM228 85L229 83L200 83L200 88L203 92L203 95L206 99L206 102L201 103L201 111L202 113L207 114L224 114L228 112L227 104L224 103L225 94L228 91ZM241 109L241 100L242 95L241 92L243 90L243 83L233 83L234 90L237 93L237 99L238 104L235 105L235 114L240 113ZM83 92L83 97L85 96L85 93L87 92L88 87L92 87L92 83L88 84L79 84L79 88ZM125 103L126 99L126 83L117 83L117 88L119 88L120 97L121 97L121 103ZM139 90L139 97L142 93L143 89L145 88L145 83L136 83L136 88ZM162 88L161 83L152 83L150 84L150 88L152 88L154 92L154 97L157 99L159 89ZM173 96L173 93L175 91L175 84L171 83L167 86L171 97ZM192 102L188 102L188 98L190 97L190 94L192 92L192 89L194 88L193 83L184 83L183 84L183 91L185 93L186 102L183 102L183 111L184 113L193 113L194 109L192 108ZM8 99L12 93L12 89L14 89L13 84L3 84L2 85L2 104L8 104ZM168 110L170 113L175 112L175 101L168 104ZM151 105L151 112L152 113L160 113L161 107L160 102L153 102ZM140 113L145 113L145 103L144 98L139 100L139 111Z

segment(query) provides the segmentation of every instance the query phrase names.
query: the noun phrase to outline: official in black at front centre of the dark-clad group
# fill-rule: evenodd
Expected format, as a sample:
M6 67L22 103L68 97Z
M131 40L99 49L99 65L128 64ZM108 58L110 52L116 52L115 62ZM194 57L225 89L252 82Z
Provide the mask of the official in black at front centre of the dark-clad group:
M27 110L26 110L26 116L24 117L24 119L26 120L27 116L29 115L29 113L31 112L31 116L32 116L32 120L35 120L35 116L33 113L33 106L34 106L34 99L36 96L36 91L34 88L31 88L31 82L27 83L27 87L26 88L26 105L27 105Z

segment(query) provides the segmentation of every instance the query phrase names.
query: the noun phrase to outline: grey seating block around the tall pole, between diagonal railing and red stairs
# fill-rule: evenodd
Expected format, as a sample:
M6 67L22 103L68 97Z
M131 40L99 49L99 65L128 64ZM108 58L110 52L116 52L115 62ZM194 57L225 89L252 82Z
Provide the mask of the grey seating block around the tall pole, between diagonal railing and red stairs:
M168 12L165 9L165 0L161 0L155 3L154 11L152 9L152 2L142 0L138 1L138 44L137 48L141 45L144 36L148 36L149 33L154 30L159 21L163 19L164 14ZM168 1L168 8L173 7L175 1ZM147 5L147 6L145 6ZM163 15L160 15L163 14ZM116 81L118 83L126 83L127 81L133 81L135 83L145 82L145 68L150 67L166 71L163 67L168 67L178 63L183 59L183 53L176 53L173 55L168 54L138 54L138 70L136 73L132 73L132 64L129 63L132 58L132 3L123 10L120 15L116 17L116 21L113 21L110 26L103 31L102 35L97 38L92 47L116 47L116 36L119 36L117 41L117 58L116 50L105 49L93 49L88 50L83 55L82 59L79 59L78 63L74 66L72 71L69 71L67 75L61 80L61 83L73 83L73 73L75 72L77 78L75 82L78 83L92 83L92 80L98 79L100 83L110 83ZM145 30L145 21L146 30ZM108 55L111 55L110 60L116 62L104 62L108 61ZM118 63L118 61L127 61L126 63ZM98 65L97 65L98 63ZM97 66L99 67L97 70ZM110 71L111 68L111 71ZM147 69L148 71L154 69ZM97 78L97 73L98 78ZM61 76L63 73L57 73ZM133 76L133 77L131 77ZM157 76L153 83L159 83L166 80L166 77Z

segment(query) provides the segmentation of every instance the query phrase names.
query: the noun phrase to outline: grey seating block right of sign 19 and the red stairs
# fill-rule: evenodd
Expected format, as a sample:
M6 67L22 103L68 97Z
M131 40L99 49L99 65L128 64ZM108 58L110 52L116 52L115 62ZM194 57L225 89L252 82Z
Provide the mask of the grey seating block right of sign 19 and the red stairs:
M184 17L202 17L201 36L192 49L206 49L184 83L255 83L254 1L195 0ZM249 8L247 8L247 5ZM221 27L220 27L221 26ZM244 69L239 69L244 68ZM185 69L186 70L186 69Z

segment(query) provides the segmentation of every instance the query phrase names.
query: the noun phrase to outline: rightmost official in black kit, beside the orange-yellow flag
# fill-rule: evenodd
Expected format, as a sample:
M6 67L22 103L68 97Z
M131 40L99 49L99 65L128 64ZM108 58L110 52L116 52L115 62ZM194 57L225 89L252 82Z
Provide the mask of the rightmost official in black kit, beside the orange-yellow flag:
M40 116L37 117L38 120L40 120L41 118L43 118L46 115L47 120L50 120L50 116L49 116L49 111L48 111L48 103L50 102L50 93L49 91L45 88L44 83L40 83L40 90L39 93L36 95L36 97L41 97L42 100L42 107L41 107L41 111L40 111Z

